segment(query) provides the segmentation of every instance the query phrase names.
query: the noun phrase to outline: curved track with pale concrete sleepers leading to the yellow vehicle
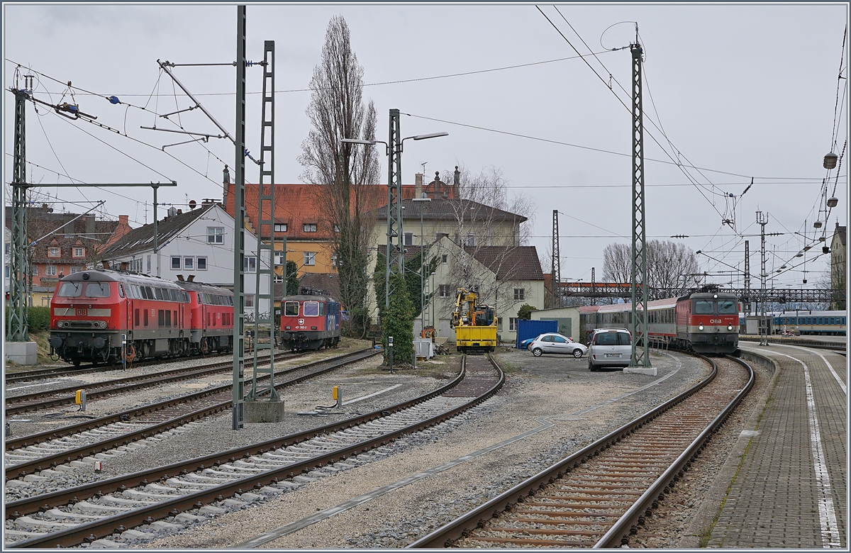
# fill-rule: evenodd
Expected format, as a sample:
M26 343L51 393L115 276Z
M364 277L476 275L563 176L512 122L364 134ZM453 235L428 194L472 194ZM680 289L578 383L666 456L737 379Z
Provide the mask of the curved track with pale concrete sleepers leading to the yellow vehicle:
M224 512L228 506L245 505L368 462L370 452L380 453L382 445L399 436L437 425L483 402L504 382L505 374L494 362L469 357L448 385L391 408L244 448L10 502L6 513L13 522L7 522L5 545L68 547L120 536L134 527L140 527L136 533L157 527L176 529L180 522L202 520L205 512ZM235 494L237 499L231 499ZM174 516L174 523L160 521L167 516ZM111 540L102 544L115 545Z

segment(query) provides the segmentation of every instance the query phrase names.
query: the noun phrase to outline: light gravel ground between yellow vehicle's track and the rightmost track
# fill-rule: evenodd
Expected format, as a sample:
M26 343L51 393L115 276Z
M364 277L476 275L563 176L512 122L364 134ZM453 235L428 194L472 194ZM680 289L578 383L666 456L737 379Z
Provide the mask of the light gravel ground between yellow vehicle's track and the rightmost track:
M430 433L392 443L386 448L386 455L377 456L371 463L319 478L249 507L211 515L205 522L186 525L162 539L134 545L237 545L308 516L316 517L317 512L322 515L323 510L357 496L376 495L375 490L380 487L510 440L522 432L542 429L407 486L390 489L375 499L363 500L335 516L320 516L318 522L262 544L271 549L403 547L646 413L709 372L705 363L679 354L654 353L652 358L659 372L657 377L621 371L590 373L584 358L535 358L521 351L497 354L508 374L504 389ZM379 376L381 384L376 385L385 387L391 378L403 382L420 380L406 373L376 375L374 380L379 380ZM660 384L610 401L653 382ZM188 440L183 437L181 442Z

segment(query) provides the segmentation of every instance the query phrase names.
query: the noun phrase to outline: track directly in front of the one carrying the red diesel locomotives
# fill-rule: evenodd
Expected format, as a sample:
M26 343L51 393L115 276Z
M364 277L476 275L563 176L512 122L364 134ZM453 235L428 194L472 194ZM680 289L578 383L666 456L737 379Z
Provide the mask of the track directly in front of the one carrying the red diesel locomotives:
M279 354L278 361L286 361L294 357L306 354L287 355ZM258 357L258 361L265 361L269 356ZM54 408L60 405L74 404L77 390L85 389L87 400L98 397L111 396L140 388L148 388L151 385L160 385L180 380L196 379L210 374L221 373L233 367L230 361L220 361L197 365L195 367L171 368L158 373L135 374L121 379L110 379L103 382L95 382L87 385L73 385L52 390L36 391L20 396L6 396L6 416L13 414L37 411L39 409Z

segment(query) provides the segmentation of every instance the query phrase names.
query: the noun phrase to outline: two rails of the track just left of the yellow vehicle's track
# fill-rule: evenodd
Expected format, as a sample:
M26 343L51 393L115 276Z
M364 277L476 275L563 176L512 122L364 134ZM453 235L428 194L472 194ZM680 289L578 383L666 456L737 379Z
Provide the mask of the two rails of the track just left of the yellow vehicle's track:
M321 359L318 361L305 363L304 365L299 365L297 367L286 368L281 371L277 371L275 374L276 376L279 376L286 373L292 373L297 370L303 370L306 368L316 367L317 365L330 363L330 366L328 368L324 368L322 370L315 371L306 375L294 377L293 379L288 379L285 382L279 383L278 385L276 385L276 389L283 389L286 386L299 384L300 382L303 382L306 379L312 378L319 374L326 373L329 370L334 370L334 368L340 368L340 366L346 365L351 362L361 361L369 356L375 355L376 353L377 351L374 351L372 348L368 350L352 351L351 353L347 353L342 356L334 356L328 359ZM355 359L351 360L351 357L355 357ZM265 375L260 378L267 379L269 377L268 375ZM70 436L76 434L77 432L91 430L93 428L109 425L118 421L128 422L127 419L140 417L147 413L153 413L164 408L174 407L174 405L179 405L181 403L194 402L199 399L203 399L204 397L221 395L223 393L227 393L230 396L231 387L231 384L215 386L214 388L209 388L208 390L203 391L197 391L186 396L175 397L173 399L166 400L163 402L153 403L151 405L142 406L140 408L129 409L127 411L124 411L123 413L115 413L107 415L106 417L100 417L100 419L92 419L78 425L66 426L57 430L48 430L46 432L42 432L40 434L32 434L30 436L22 436L16 441L7 442L6 450L10 451L9 446L12 445L14 442L17 442L17 444L19 444L19 447L26 447L27 445L37 445L41 442L49 442L50 440L53 440L58 437ZM106 440L101 440L100 442L89 443L78 448L68 449L60 453L54 453L53 455L45 455L43 457L32 459L31 461L25 461L16 465L7 465L5 470L5 477L6 480L9 480L10 478L26 476L27 474L37 472L38 470L43 470L44 468L52 469L57 465L70 463L74 459L84 459L87 455L94 455L95 453L108 451L112 448L127 445L129 442L135 442L137 440L145 439L149 436L156 435L165 430L170 430L180 425L185 425L187 422L191 422L192 420L203 419L209 414L216 413L222 409L231 407L231 404L232 399L229 399L224 402L216 402L213 405L194 410L191 413L186 413L179 417L168 419L159 424L148 425L145 428L141 428L139 430L130 430L121 435L112 436ZM123 417L127 419L123 419ZM31 442L31 444L27 442L28 440ZM11 450L14 451L14 449Z

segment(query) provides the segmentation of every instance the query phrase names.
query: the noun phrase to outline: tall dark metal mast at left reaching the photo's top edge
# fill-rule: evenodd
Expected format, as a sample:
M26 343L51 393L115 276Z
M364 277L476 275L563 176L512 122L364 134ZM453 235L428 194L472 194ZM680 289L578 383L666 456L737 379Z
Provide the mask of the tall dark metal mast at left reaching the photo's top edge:
M237 6L237 160L233 195L233 413L232 428L245 424L245 6Z

